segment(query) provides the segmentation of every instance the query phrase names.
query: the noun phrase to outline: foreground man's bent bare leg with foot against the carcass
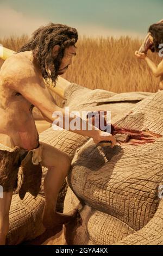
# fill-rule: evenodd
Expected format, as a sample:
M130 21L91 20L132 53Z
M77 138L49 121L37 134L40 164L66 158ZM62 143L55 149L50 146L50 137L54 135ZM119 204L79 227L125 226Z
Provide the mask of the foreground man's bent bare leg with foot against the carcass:
M42 221L45 227L52 228L55 225L70 222L77 213L77 211L74 211L69 215L65 215L55 211L58 193L70 170L71 159L66 153L51 145L42 142L40 144L43 145L42 166L48 168L43 184L46 203Z

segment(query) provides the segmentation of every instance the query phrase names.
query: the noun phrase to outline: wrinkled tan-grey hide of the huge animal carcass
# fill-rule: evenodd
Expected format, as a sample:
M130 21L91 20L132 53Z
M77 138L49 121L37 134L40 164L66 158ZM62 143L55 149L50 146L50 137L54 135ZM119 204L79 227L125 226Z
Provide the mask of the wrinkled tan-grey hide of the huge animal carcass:
M71 84L65 97L65 105L71 110L110 110L112 124L163 135L163 92L115 94ZM116 145L114 149L97 147L92 139L52 128L40 139L72 157L64 212L78 208L83 223L78 218L64 227L64 243L163 244L163 203L159 198L159 186L163 185L162 137L151 144ZM43 177L45 173L46 169ZM14 195L8 244L34 239L44 231L43 196L43 191L36 199L27 194L21 202Z

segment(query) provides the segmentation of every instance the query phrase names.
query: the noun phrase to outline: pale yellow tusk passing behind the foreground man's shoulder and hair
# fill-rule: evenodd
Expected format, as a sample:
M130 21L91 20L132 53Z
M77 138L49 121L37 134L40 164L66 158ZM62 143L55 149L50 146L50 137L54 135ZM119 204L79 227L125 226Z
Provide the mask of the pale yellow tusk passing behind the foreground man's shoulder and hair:
M3 60L8 59L10 56L12 56L12 54L14 54L15 52L3 47L2 45L0 45L0 58ZM45 81L44 81L45 82ZM49 90L52 90L52 92L57 93L60 97L62 97L63 99L65 99L65 89L70 86L71 82L67 81L65 78L62 78L61 76L58 76L57 82L55 87L53 87L52 82L49 81L49 83L47 84L45 82L47 88Z

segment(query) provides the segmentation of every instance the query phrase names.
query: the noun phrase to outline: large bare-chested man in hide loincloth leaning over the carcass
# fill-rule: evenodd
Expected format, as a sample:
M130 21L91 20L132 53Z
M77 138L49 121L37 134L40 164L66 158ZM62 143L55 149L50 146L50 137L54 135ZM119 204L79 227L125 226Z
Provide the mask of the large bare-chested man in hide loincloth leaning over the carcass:
M54 111L61 111L64 117L67 115L64 109L55 105L43 78L47 81L50 79L55 85L57 76L64 74L72 62L72 57L76 56L77 40L76 29L49 23L37 29L28 44L7 59L1 68L0 185L4 191L3 198L0 199L1 245L5 244L9 229L9 209L20 166L23 166L27 179L22 181L21 192L19 191L21 199L26 193L24 184L29 185L28 191L36 196L39 192L38 186L32 187L30 182L33 186L38 180L40 182L41 166L48 168L44 181L46 203L42 215L45 227L52 228L57 224L67 223L76 215L76 212L65 215L55 211L58 193L70 169L71 160L61 150L39 142L32 108L36 106L49 123L54 121ZM72 118L69 120L71 122ZM82 119L80 121L82 127ZM86 130L73 132L91 137L95 143L111 141L111 148L114 147L116 141L110 133L95 130L95 126L87 121L86 123ZM28 171L31 172L31 169L32 175L38 174L38 177L35 180L30 178L28 184Z

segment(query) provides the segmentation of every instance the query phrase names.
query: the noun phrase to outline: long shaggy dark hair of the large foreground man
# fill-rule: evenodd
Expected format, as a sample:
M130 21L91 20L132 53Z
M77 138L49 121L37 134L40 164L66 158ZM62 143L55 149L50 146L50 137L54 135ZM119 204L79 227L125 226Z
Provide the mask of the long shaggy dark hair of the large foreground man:
M22 46L18 52L32 51L34 58L39 64L42 77L48 82L50 78L55 86L57 71L64 57L65 48L75 45L78 40L78 32L75 28L66 25L49 23L47 26L38 28L32 34L29 42ZM52 56L52 49L59 45L57 57Z

